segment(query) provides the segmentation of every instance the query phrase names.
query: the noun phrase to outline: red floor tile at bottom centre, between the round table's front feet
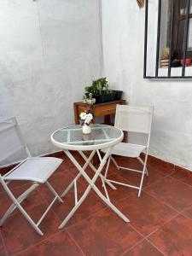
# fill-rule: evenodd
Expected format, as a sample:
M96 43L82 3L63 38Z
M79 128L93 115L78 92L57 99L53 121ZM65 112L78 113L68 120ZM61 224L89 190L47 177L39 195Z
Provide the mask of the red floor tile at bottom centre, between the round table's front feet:
M68 229L85 255L119 255L142 236L109 209L75 224Z

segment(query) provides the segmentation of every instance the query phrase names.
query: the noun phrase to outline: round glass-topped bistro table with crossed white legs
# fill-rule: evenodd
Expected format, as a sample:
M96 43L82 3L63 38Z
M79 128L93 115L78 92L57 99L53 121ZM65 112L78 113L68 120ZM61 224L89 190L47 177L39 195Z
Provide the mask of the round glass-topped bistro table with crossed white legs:
M108 157L110 156L113 147L120 143L123 140L124 134L119 128L115 128L109 125L91 125L91 133L88 135L84 135L82 131L82 127L80 125L72 125L62 129L55 131L50 139L51 142L58 148L62 148L62 150L67 154L68 158L72 160L73 165L77 167L79 170L79 174L73 179L73 182L70 183L67 189L64 190L61 197L67 195L67 192L74 188L74 200L75 205L71 212L68 213L67 217L63 220L60 225L60 229L67 224L67 221L72 218L74 212L77 211L79 206L83 203L84 199L90 193L90 189L94 189L96 195L98 195L102 201L104 201L108 207L110 207L113 212L119 215L120 218L123 218L125 222L129 222L129 219L125 217L125 215L119 211L117 207L115 207L108 196L108 189L106 184L110 186L112 189L116 189L112 183L110 183L106 177L104 177L101 172L103 167L105 166ZM107 148L106 154L102 157L99 153L99 149ZM84 166L80 166L78 160L76 160L71 154L71 150L76 150L84 159ZM84 154L83 151L91 151L89 157ZM91 163L91 160L95 154L98 154L100 159L100 165L96 169L96 167ZM90 166L93 172L95 172L94 177L90 179L90 177L85 172L85 169ZM88 186L84 191L84 194L78 198L78 186L77 181L79 177L83 176L87 181ZM105 195L96 187L96 179L100 177L102 179L102 186L105 191Z

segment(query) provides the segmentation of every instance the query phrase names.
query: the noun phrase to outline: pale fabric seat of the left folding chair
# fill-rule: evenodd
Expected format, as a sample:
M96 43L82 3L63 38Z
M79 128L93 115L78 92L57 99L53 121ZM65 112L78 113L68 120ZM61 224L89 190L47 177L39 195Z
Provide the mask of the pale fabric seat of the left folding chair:
M30 180L44 183L61 165L62 160L55 157L33 157L17 166L13 172L4 176L4 180Z

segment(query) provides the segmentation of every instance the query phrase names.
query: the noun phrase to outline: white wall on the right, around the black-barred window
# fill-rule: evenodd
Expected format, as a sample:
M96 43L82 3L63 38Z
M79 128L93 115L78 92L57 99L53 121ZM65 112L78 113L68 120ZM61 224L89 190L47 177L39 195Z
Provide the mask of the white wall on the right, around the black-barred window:
M150 154L192 169L192 82L143 79L144 9L102 0L104 69L131 105L154 105Z

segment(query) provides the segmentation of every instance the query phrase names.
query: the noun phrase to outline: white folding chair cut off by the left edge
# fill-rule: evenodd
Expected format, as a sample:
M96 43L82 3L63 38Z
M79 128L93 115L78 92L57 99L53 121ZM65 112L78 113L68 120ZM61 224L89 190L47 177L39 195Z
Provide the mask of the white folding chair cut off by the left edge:
M26 159L23 160L24 158ZM7 212L4 213L3 218L0 219L0 226L3 225L10 213L18 208L34 230L36 230L39 235L43 236L43 232L38 228L39 224L56 200L62 202L61 197L57 195L55 189L53 189L48 182L48 178L55 172L57 167L61 165L62 160L54 157L32 157L24 143L17 120L15 118L0 120L0 167L18 162L20 162L20 164L15 166L10 172L4 176L0 174L0 183L10 200L13 201L13 204L9 207ZM22 195L15 198L15 195L8 186L8 184L13 181L30 181L32 185L29 189L26 189ZM40 183L44 183L55 197L42 217L38 220L38 223L35 223L20 203L24 201Z

